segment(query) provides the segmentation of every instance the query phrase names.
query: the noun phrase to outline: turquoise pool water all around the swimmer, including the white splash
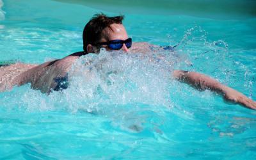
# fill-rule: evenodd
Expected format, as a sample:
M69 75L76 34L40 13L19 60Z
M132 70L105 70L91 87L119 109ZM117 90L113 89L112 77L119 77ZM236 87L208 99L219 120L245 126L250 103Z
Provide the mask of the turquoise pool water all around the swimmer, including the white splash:
M244 9L253 1L228 13L218 3L196 9L200 1L175 13L161 4L66 2L0 1L0 61L43 63L81 51L84 24L99 12L124 13L136 42L179 46L81 57L63 92L26 84L0 93L0 159L255 158L255 111L170 79L173 69L195 70L255 100L256 19Z

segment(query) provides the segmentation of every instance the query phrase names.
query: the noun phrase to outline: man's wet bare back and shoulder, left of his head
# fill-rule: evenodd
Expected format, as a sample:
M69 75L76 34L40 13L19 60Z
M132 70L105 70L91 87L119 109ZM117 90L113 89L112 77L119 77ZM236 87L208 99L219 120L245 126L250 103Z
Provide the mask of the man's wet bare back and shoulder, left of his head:
M31 87L48 93L57 83L54 79L65 77L72 63L83 55L83 52L70 54L60 60L48 61L42 65L16 63L0 68L0 91L10 90L12 86L31 83Z

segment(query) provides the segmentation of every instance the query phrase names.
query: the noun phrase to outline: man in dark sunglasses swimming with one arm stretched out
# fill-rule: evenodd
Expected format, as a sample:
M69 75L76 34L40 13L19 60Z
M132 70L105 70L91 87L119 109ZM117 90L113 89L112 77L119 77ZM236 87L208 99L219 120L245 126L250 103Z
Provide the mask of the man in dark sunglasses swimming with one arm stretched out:
M83 52L76 52L60 60L48 61L41 65L16 63L0 68L0 90L10 90L12 86L31 83L31 87L49 93L51 90L67 88L68 71L72 64L88 53L99 53L101 48L106 51L121 50L124 52L150 52L153 45L145 42L132 44L122 24L124 17L107 17L95 15L84 27ZM11 74L10 74L11 73ZM241 104L246 108L256 109L256 102L242 93L225 86L211 77L197 72L174 70L172 76L177 81L187 83L198 90L211 90L220 94L225 100Z

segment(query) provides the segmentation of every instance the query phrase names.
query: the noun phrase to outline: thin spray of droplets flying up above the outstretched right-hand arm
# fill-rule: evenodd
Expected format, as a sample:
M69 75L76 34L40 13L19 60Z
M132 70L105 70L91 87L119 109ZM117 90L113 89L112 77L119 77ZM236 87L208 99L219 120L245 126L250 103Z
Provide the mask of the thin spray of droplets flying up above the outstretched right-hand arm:
M176 49L179 54L188 57L186 61L190 64L180 68L202 72L222 83L230 83L234 70L232 70L232 56L224 40L208 40L208 32L195 25L184 32Z

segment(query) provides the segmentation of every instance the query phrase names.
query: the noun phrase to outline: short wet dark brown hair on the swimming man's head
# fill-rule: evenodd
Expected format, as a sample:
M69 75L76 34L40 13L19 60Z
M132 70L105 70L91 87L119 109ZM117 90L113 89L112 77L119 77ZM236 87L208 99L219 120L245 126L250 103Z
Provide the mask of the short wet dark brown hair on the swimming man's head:
M110 25L114 23L122 24L123 19L124 19L124 15L120 15L116 17L108 17L103 13L94 15L92 19L84 27L84 31L83 31L84 51L87 53L86 48L88 44L96 44L97 42L99 42L103 29L110 27Z

